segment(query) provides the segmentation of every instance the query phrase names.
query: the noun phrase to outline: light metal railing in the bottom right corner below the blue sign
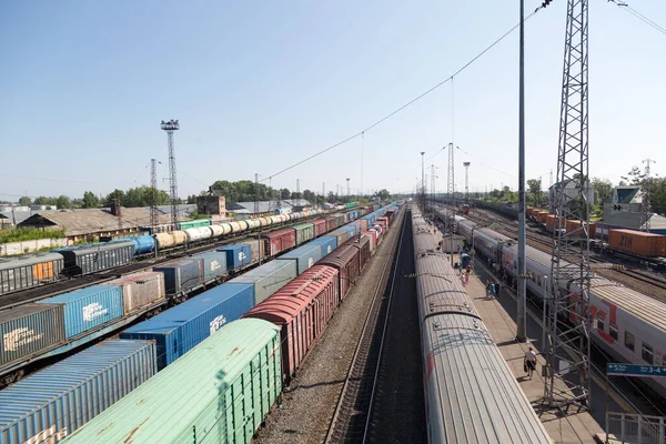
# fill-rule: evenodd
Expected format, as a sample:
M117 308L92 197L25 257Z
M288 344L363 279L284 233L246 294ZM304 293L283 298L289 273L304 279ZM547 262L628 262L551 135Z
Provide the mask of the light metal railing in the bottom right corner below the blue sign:
M665 444L664 416L606 412L606 443Z

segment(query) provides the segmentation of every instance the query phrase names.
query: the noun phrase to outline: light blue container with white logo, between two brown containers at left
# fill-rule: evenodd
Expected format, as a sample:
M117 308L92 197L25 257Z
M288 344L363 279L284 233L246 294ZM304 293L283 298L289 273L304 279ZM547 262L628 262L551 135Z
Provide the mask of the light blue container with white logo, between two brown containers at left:
M98 327L123 315L122 289L117 285L89 286L42 299L38 304L64 304L67 339Z

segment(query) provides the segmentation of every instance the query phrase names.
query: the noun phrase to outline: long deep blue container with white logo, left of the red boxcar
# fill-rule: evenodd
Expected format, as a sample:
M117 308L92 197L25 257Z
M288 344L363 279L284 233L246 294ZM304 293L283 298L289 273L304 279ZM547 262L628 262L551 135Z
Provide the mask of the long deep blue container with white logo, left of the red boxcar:
M162 370L252 306L252 285L226 283L129 327L120 333L120 337L154 340L158 370Z

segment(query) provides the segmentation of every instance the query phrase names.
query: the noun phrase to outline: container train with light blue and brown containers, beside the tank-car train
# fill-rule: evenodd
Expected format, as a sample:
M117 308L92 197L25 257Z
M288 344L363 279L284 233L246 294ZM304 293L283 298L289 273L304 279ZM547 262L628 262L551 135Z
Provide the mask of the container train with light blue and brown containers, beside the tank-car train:
M387 211L382 208L356 220L354 210L326 220L278 229L261 233L258 239L155 266L150 273L129 274L101 285L0 311L0 335L3 337L0 386L22 377L22 369L34 361L67 353L140 316L152 315L164 305L182 302L199 289L218 284L249 266L300 246L317 233L324 234L324 223L326 229L335 229L354 219L360 229L370 228L371 235L379 235L383 230L379 220L384 219ZM350 230L334 230L331 235L337 235L336 242L342 243L350 236Z

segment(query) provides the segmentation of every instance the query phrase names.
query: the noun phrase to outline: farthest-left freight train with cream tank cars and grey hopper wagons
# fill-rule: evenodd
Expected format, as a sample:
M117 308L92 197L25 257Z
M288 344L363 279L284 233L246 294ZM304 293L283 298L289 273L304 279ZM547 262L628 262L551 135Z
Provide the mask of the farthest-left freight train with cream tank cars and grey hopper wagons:
M354 208L355 203L337 205L332 210L307 210L283 213L268 218L248 219L235 222L213 223L211 219L179 222L176 231L168 224L142 228L149 235L118 239L88 245L56 249L51 253L32 254L16 259L0 259L0 295L32 289L56 282L63 276L97 273L130 264L138 256L154 254L155 251L185 248L193 244L223 239L228 235L265 230L289 221L296 221L320 214ZM356 219L377 210L380 205L369 205L350 211ZM332 216L340 218L340 214Z

